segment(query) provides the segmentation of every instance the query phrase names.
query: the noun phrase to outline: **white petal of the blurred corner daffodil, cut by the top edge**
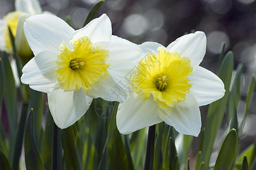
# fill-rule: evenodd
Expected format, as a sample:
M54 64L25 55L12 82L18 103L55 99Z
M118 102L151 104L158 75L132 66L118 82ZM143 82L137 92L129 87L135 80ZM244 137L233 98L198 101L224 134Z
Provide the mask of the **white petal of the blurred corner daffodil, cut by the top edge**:
M41 14L42 9L39 1L37 0L16 0L16 11L27 12L30 15Z

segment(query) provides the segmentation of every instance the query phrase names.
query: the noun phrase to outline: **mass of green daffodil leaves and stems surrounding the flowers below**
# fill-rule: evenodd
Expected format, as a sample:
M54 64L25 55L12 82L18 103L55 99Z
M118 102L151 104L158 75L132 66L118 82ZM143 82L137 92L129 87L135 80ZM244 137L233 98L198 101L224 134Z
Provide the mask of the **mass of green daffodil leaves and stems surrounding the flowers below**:
M103 2L99 1L91 8L84 25L95 18ZM71 25L70 16L66 18L66 22ZM12 35L11 41L21 76L22 63L15 52ZM222 45L219 57L218 75L224 82L226 92L222 99L209 105L207 122L203 125L200 137L196 139L190 135L178 134L164 122L157 124L156 133L152 135L154 145L150 146L150 151L154 153L150 168L256 169L255 143L238 154L255 91L255 75L251 76L249 84L242 84L243 66L239 64L231 84L234 57L232 52L224 54L224 47L225 44ZM245 97L241 92L243 86L248 89ZM245 100L244 116L238 124L237 108L242 100ZM132 134L120 134L116 128L119 103L94 99L85 116L69 128L61 130L53 123L43 93L29 90L25 85L15 87L9 56L5 52L0 58L0 101L7 114L7 124L1 123L0 126L0 169L22 169L20 156L25 158L27 169L115 170L148 167L145 166L148 130L144 128ZM28 108L33 109L27 117ZM221 124L228 125L228 128L224 129L223 144L216 163L209 165ZM199 145L195 147L198 141ZM198 154L195 156L193 153Z

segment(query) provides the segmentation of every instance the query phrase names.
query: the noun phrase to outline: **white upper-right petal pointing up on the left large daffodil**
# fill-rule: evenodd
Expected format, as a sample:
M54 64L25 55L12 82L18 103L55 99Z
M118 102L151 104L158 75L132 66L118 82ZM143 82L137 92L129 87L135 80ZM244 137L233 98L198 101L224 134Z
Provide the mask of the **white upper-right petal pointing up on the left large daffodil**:
M72 33L73 39L79 39L80 37L87 36L93 43L98 41L109 42L111 40L111 35L111 22L106 14L91 20L91 22L85 25L85 27Z

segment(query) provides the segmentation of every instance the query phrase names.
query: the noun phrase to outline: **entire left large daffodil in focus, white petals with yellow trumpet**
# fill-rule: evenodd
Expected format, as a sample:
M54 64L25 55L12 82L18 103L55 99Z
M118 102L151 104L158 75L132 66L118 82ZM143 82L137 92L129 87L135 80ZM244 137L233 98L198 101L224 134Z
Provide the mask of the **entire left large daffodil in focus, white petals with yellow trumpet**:
M140 48L113 36L106 14L77 31L56 16L34 15L24 23L24 33L35 57L23 67L22 83L48 94L59 128L79 120L93 98L125 101L128 91L120 85L136 66Z

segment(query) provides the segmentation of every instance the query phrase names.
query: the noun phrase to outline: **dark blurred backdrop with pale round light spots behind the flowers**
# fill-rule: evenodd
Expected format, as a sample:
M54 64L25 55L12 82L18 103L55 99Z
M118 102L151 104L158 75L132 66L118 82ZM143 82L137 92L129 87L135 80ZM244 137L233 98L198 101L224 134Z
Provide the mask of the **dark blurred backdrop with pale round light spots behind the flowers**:
M70 16L74 29L79 29L98 0L39 0L43 11L62 19ZM14 1L0 0L0 18L14 11ZM256 73L256 2L254 0L106 0L98 15L106 13L112 22L113 35L141 44L156 41L169 45L185 33L203 31L207 36L207 53L201 66L217 74L222 42L225 52L234 52L235 65L243 63L244 80L242 99L245 99L251 74ZM121 57L121 56L120 56ZM254 97L253 103L256 102ZM244 115L245 103L238 107L238 122ZM202 111L205 124L207 106ZM252 104L246 119L241 150L255 140L256 105ZM225 119L225 117L224 117ZM220 120L221 121L221 120ZM225 121L224 121L225 122ZM224 123L223 128L228 126ZM216 139L212 160L216 159L223 134ZM196 138L194 140L196 141ZM198 145L195 145L198 146ZM198 148L191 149L191 158Z

